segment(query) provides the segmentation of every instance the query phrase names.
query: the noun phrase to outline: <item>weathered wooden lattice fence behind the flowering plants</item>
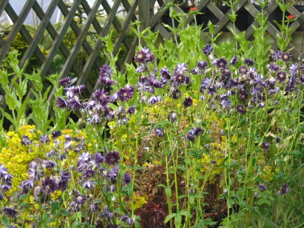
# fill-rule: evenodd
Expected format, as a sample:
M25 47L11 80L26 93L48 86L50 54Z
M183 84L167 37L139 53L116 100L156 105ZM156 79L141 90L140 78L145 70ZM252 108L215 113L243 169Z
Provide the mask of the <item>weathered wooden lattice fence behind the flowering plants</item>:
M126 35L131 23L139 19L142 21L141 29L150 27L151 30L159 31L162 39L170 39L173 34L163 26L161 19L164 14L168 12L168 5L173 2L174 0L134 0L130 5L128 0L116 0L113 5L110 6L106 0L95 0L94 5L90 7L87 0L74 0L71 6L67 7L63 0L52 0L48 9L44 12L37 0L27 0L21 13L17 15L9 0L1 0L0 15L3 12L6 12L14 24L8 34L0 32L0 61L2 62L6 58L16 36L20 33L28 44L28 48L21 58L20 67L25 64L27 59L35 56L37 61L41 64L41 77L44 79L48 74L58 73L53 69L52 62L56 54L61 53L65 58L65 62L60 71L60 78L66 77L69 72L73 72L74 75L79 78L78 84L85 84L88 91L92 92L97 88L97 84L90 84L88 80L92 67L99 69L105 62L103 62L98 55L102 50L102 41L100 39L96 39L96 42L93 45L88 42L87 34L89 29L93 27L96 33L101 37L108 34L111 25L116 29L118 35L115 37L113 54L116 55L118 53L122 44L126 47L126 57L124 59L119 58L117 61L117 67L119 70L124 71L126 63L132 62L135 48L138 44L138 37L135 37L134 40L131 41ZM160 9L157 13L154 13L155 6L157 4L160 6ZM83 13L86 14L86 19L81 26L74 20L79 13L78 10L80 7L83 9ZM117 17L118 11L121 7L123 7L124 11L127 12L127 16L124 18L122 23ZM174 5L173 7L177 12L183 12L181 7L177 5ZM232 9L223 13L211 0L201 0L196 7L199 11L208 9L214 16L216 16L218 22L216 24L217 26L214 28L215 35L224 29L233 29L233 23L229 17L229 14L232 13ZM61 24L60 30L57 32L54 25L50 23L50 18L54 14L55 9L58 8L64 16L64 20ZM106 14L106 20L104 23L100 23L96 16L100 8L103 8L104 13ZM266 16L271 15L277 8L277 3L273 1L265 10ZM27 27L24 25L25 18L30 13L30 10L33 10L41 21L34 35L31 35ZM233 10L236 14L238 14L240 10L245 10L253 18L255 18L259 12L251 1L248 0L240 0L235 4ZM303 40L303 32L299 33L296 30L304 28L304 13L300 13L294 6L289 7L287 11L297 18L290 24L290 27L295 27L295 29L292 30L292 35L298 36L300 34L300 39ZM189 16L187 18L186 25L191 23L194 23L193 16ZM256 20L253 20L246 29L246 39L250 39L252 36L254 31L253 26L259 26ZM77 40L71 49L63 43L64 36L70 29L77 37ZM268 23L267 31L271 34L274 41L272 49L276 49L275 39L277 33L280 33L280 31L270 23L270 21ZM53 39L52 46L47 54L44 54L39 47L39 42L45 32L48 32ZM240 32L238 28L237 32ZM201 36L206 42L209 42L209 38L205 32L202 32ZM287 49L291 50L290 52L294 59L304 59L302 45L296 46L290 43ZM81 50L84 50L86 58L85 65L82 67L80 67L77 62L77 56ZM50 100L52 99L52 94L53 93L50 94ZM30 96L30 93L28 93L27 96ZM6 106L5 94L3 94L1 102L4 104L3 106Z

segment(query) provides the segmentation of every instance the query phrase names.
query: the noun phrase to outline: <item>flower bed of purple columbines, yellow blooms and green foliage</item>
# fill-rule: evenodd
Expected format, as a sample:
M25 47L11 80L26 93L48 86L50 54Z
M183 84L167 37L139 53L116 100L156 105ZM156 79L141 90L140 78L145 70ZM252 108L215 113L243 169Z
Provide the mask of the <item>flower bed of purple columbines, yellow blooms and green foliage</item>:
M135 29L145 45L125 74L107 53L91 97L71 77L49 77L57 113L78 122L45 128L24 117L2 129L2 226L303 225L304 64L262 42L262 16L254 41L235 34L220 45L212 24L205 44L200 26L175 16L174 40ZM17 116L18 88L7 88Z

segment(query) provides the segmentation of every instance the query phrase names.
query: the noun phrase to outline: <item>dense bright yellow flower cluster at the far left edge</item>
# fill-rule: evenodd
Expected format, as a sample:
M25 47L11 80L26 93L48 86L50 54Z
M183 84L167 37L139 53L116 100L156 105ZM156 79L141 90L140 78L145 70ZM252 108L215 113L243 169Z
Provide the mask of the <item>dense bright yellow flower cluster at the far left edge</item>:
M39 137L41 135L40 131L35 129L34 125L26 125L19 128L18 132L10 131L6 134L7 146L3 147L0 151L0 164L5 164L8 172L13 175L13 186L10 191L6 194L11 195L12 193L18 191L18 185L21 185L21 181L28 178L29 164L35 159L45 159L46 154L54 149L54 140L50 137L50 142L40 143ZM81 132L73 132L72 130L63 130L62 135L56 139L56 148L63 150L65 145L65 136L69 135L71 137L86 137L86 135ZM28 136L31 144L22 145L22 136ZM91 144L87 145L92 146ZM68 162L72 162L78 154L73 150L69 150ZM67 164L61 164L67 165Z

